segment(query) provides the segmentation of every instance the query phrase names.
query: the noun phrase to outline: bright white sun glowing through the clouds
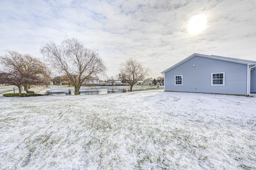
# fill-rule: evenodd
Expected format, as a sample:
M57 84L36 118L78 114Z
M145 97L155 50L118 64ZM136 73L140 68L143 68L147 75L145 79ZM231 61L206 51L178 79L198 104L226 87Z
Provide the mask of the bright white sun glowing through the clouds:
M207 17L204 14L197 14L194 16L191 16L188 20L188 34L190 36L196 36L200 34L205 28L207 24Z

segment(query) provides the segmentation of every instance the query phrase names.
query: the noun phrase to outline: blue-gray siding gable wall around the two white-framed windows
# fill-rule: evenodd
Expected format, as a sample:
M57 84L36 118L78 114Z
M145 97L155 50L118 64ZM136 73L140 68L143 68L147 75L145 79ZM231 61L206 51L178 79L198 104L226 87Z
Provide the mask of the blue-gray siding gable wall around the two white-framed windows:
M225 72L225 86L212 86L211 73L220 72ZM183 75L182 86L174 85L174 75ZM165 91L246 95L247 65L195 56L167 71L165 85Z

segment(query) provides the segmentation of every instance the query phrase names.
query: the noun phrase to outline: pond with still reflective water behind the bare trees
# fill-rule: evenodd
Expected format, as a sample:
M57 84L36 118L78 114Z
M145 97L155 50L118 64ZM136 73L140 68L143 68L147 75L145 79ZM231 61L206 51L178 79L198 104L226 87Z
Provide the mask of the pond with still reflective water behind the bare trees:
M157 87L133 87L132 91L155 89ZM81 88L78 95L99 95L108 93L130 92L130 87L88 87ZM48 95L74 95L74 88L52 89L47 91Z

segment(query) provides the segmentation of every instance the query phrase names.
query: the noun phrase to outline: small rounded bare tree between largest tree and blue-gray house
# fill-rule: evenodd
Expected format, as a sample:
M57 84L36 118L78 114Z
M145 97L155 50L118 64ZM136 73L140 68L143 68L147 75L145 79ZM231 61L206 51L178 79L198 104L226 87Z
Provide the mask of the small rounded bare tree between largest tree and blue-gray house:
M128 84L130 84L130 91L137 81L144 79L150 69L144 67L141 62L137 61L135 58L128 58L124 63L120 65L120 74L124 75Z

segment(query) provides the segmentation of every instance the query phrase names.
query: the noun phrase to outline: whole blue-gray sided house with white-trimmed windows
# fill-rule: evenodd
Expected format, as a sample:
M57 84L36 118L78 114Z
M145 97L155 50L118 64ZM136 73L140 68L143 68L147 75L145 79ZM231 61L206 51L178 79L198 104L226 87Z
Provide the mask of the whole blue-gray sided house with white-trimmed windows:
M162 72L164 91L250 95L256 61L194 53Z

